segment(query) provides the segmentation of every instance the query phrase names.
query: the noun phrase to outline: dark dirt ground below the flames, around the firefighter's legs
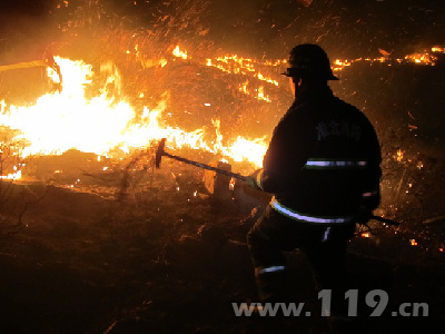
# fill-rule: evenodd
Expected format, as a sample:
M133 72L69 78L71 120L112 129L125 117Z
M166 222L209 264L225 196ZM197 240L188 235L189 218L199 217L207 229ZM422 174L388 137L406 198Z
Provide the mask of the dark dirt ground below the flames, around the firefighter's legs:
M22 215L28 226L1 235L0 333L326 333L298 250L287 254L289 294L312 316L234 313L231 303L258 301L246 233L267 196L236 187L233 198L217 199L196 168L180 165L132 179L125 196L121 175L111 173L75 187L13 186L32 204ZM360 333L433 333L445 312L443 253L394 232L359 230L350 242ZM382 317L364 303L376 288L389 295ZM402 303L427 303L428 316L392 316Z

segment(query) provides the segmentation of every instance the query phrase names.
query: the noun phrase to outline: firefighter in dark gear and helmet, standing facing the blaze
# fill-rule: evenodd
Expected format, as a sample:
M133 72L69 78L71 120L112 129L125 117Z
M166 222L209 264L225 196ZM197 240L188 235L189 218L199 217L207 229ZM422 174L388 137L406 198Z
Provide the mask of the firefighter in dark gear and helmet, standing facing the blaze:
M283 252L299 248L318 288L332 289L330 312L344 312L335 303L348 286L346 246L356 223L379 205L380 148L366 116L333 95L327 82L338 78L319 46L295 47L288 63L294 104L274 130L264 168L247 180L275 195L247 235L259 296L287 299Z

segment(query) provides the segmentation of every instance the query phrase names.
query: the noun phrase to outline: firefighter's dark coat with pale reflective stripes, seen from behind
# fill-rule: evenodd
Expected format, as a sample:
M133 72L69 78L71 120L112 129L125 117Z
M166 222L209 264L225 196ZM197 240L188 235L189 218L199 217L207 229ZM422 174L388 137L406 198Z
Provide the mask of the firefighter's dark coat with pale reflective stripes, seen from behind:
M379 204L380 148L357 108L317 90L297 98L274 130L258 186L271 207L309 224L353 222Z

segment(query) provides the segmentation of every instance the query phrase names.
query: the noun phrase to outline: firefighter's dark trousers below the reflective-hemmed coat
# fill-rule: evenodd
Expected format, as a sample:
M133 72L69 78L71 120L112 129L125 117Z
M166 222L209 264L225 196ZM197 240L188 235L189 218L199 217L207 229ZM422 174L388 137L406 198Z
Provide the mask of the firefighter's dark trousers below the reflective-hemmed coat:
M309 261L317 288L332 289L334 311L335 301L344 299L349 285L345 253L354 232L355 223L308 224L288 218L267 206L247 235L261 302L289 302L284 252L299 248Z

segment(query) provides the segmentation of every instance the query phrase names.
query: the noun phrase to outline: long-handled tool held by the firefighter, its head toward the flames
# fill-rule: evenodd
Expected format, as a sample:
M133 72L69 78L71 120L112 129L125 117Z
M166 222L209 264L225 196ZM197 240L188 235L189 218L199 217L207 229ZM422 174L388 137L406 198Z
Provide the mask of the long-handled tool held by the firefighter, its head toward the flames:
M166 150L165 150L166 140L167 140L166 138L162 138L160 140L160 143L159 143L158 149L156 150L156 157L155 157L156 168L160 168L160 161L162 159L162 156L166 156L166 157L169 157L171 159L175 159L175 160L188 164L188 165L192 165L192 166L196 166L196 167L199 167L199 168L204 168L204 169L212 170L212 171L216 171L216 173L219 173L219 174L222 174L222 175L235 177L235 178L244 180L244 181L247 180L247 176L244 176L244 175L240 175L240 174L237 174L237 173L231 173L231 171L228 171L228 170L224 170L224 169L220 169L220 168L217 168L217 167L212 167L212 166L209 166L209 165L206 165L206 164L202 164L202 163L194 161L194 160L190 160L190 159L186 159L186 158L182 158L182 157L166 153ZM367 216L367 218L369 220L377 220L377 222L386 224L386 225L393 225L393 226L400 225L400 223L397 223L395 220L392 220L392 219L388 219L388 218L384 218L384 217L380 217L380 216L369 215L369 216Z

